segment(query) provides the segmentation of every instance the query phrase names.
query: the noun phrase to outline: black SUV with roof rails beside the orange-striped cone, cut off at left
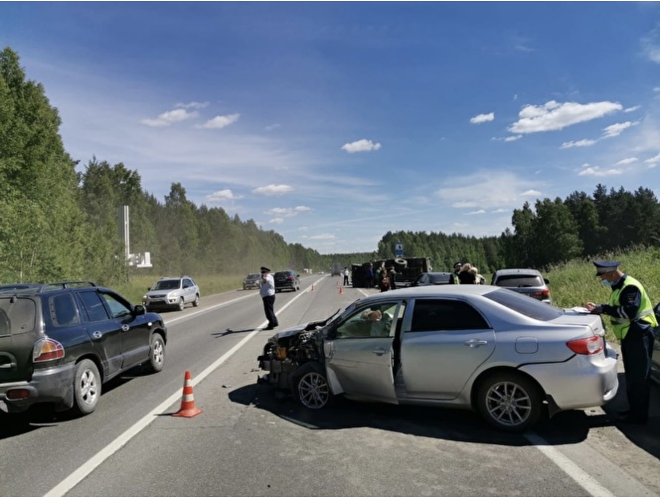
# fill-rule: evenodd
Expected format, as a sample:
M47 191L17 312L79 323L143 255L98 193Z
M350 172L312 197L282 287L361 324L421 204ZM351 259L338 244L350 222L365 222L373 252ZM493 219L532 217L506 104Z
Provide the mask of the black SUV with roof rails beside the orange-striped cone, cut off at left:
M166 342L160 315L92 282L0 288L0 400L90 414L113 377L162 370Z

